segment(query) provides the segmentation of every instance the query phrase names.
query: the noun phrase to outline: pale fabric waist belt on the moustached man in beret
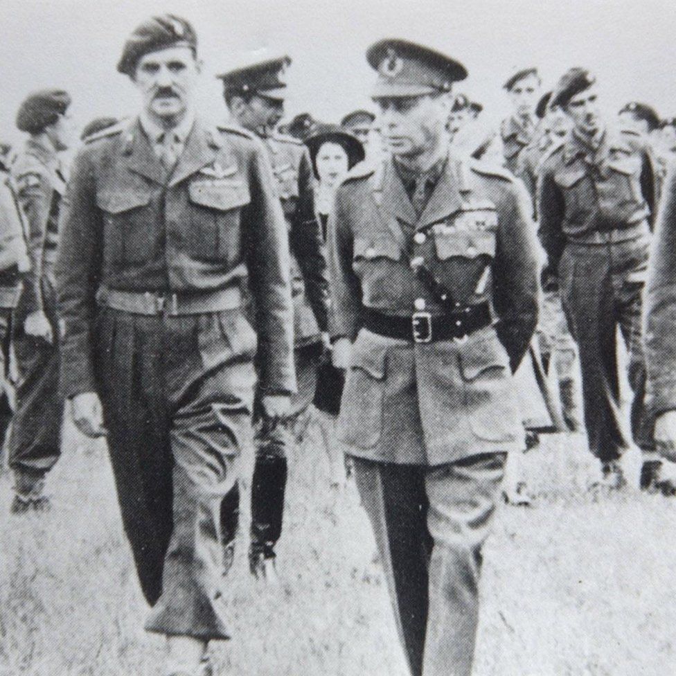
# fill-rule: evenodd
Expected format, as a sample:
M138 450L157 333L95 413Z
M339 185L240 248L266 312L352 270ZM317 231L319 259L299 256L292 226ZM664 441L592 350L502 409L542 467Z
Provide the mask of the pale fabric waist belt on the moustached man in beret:
M163 314L177 317L184 314L234 310L242 305L242 294L238 287L183 293L120 291L104 287L99 290L98 302L112 310L130 314Z

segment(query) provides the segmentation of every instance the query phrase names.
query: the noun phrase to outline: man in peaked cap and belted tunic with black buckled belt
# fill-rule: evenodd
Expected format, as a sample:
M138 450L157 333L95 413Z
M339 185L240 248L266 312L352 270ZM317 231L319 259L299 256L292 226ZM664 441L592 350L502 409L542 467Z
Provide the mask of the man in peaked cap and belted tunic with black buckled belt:
M329 224L337 422L414 675L469 676L477 585L508 451L510 372L537 321L535 229L503 170L449 153L458 62L369 48L388 157L338 189Z

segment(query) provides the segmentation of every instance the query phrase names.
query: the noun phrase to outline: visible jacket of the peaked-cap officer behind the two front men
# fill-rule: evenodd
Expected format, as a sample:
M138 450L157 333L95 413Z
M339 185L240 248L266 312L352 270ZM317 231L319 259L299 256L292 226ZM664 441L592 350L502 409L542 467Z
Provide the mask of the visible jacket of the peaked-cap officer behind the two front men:
M290 136L263 139L289 229L296 346L317 342L328 330L326 247L314 210L312 163L305 145Z

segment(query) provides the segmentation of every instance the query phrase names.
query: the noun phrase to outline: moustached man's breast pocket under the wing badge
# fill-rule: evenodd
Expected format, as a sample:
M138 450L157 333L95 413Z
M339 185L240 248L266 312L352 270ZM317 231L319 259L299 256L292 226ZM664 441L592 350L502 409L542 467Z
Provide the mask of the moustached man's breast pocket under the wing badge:
M189 253L201 260L235 260L241 244L240 215L251 202L247 185L243 181L193 181L188 186L188 198Z

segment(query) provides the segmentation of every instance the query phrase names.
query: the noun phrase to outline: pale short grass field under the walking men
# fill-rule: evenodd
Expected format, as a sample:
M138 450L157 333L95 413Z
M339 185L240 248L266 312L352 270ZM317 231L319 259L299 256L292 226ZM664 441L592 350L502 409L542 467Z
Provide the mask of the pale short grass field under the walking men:
M240 533L218 675L406 674L366 517L330 489L316 432L292 459L279 587L251 582ZM51 513L10 517L0 480L0 676L160 676L105 448L66 440ZM583 446L544 438L524 459L537 503L499 510L476 676L676 674L676 501L588 492Z

